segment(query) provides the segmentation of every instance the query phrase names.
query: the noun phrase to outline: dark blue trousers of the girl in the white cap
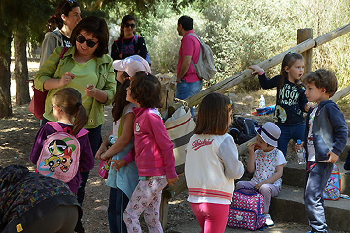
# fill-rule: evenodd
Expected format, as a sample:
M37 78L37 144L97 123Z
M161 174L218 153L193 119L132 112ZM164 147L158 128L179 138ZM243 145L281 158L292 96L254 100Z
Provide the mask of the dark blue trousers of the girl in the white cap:
M123 213L129 198L119 188L111 188L109 194L108 221L111 233L127 233Z

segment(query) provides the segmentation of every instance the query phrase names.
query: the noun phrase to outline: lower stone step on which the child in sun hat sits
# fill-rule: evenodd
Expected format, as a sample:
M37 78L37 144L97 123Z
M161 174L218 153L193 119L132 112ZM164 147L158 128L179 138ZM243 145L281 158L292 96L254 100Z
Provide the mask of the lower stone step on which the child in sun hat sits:
M271 199L270 215L274 221L308 224L303 200L304 190L296 186L283 185L280 194ZM340 198L336 201L325 200L325 215L328 227L349 232L350 200Z

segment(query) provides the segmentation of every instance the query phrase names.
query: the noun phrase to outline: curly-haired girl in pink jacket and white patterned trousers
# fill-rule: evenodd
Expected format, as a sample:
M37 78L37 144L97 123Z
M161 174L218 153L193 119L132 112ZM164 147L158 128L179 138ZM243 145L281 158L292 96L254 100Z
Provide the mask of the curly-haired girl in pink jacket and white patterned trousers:
M123 159L112 160L112 168L119 171L135 161L139 170L139 184L123 214L129 233L142 232L139 216L143 211L149 232L163 232L159 221L161 193L167 184L173 186L178 180L174 144L157 110L162 107L160 91L159 80L148 72L137 72L127 88L126 100L138 107L133 108L135 147Z

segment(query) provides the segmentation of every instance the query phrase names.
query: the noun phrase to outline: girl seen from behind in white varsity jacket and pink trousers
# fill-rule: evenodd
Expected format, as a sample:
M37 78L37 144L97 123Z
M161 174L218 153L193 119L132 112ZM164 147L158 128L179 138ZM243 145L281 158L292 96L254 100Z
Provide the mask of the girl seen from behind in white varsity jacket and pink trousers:
M186 148L188 201L201 233L224 233L234 191L234 179L244 173L231 135L232 102L219 93L199 105L194 135Z

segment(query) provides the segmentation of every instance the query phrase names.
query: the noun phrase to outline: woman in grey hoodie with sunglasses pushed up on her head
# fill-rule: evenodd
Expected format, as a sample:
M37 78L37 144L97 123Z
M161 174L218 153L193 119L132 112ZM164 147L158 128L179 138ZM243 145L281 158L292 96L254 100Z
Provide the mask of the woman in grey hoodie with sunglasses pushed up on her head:
M40 67L57 46L71 47L70 36L81 20L79 3L75 0L61 1L55 15L46 22L45 39L41 45Z

